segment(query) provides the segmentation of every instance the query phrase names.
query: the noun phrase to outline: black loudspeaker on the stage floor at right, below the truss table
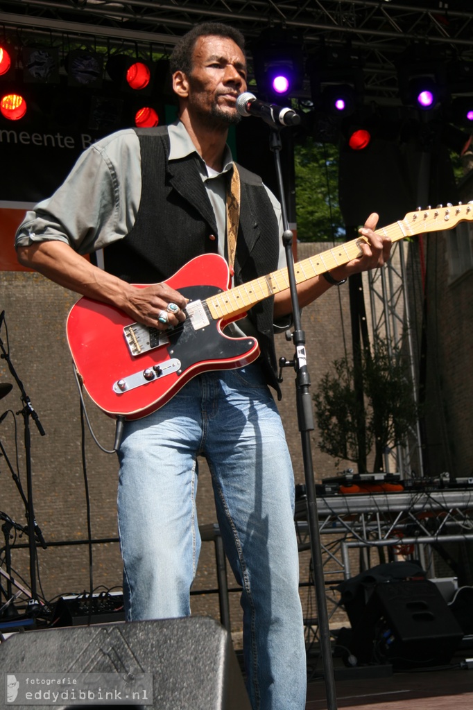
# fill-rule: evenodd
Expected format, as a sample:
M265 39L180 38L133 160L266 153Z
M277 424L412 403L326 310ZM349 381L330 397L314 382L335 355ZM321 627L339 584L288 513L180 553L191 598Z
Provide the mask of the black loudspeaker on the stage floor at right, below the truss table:
M445 665L463 632L433 582L376 584L364 611L352 622L350 650L359 663L394 668Z

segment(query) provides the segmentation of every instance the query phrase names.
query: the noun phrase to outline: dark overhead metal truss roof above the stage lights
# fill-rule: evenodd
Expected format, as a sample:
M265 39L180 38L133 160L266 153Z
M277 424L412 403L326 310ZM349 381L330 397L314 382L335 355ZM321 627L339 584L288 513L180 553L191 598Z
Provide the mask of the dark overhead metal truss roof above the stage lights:
M469 0L428 7L408 0L1 0L0 28L107 43L153 45L169 51L195 24L222 21L249 43L268 27L298 33L305 53L320 45L349 43L364 58L365 91L396 99L396 60L411 43L428 43L446 58L473 60L473 9Z

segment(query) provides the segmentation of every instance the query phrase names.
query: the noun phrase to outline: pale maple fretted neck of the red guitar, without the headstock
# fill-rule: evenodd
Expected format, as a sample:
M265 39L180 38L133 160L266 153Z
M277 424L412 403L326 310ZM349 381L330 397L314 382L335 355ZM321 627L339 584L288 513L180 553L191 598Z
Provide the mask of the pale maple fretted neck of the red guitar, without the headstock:
M375 234L389 236L391 241L398 241L406 236L411 236L411 229L403 222L390 224L383 229L376 230ZM344 244L335 246L327 251L310 256L294 265L296 283L304 283L314 276L318 276L325 271L332 271L337 266L352 261L361 256L359 247L360 241L366 241L360 236ZM248 311L260 301L276 293L280 293L289 288L288 269L281 268L266 276L260 276L252 281L248 281L236 288L222 291L215 296L207 298L206 303L214 320L218 318L230 319L240 313Z

